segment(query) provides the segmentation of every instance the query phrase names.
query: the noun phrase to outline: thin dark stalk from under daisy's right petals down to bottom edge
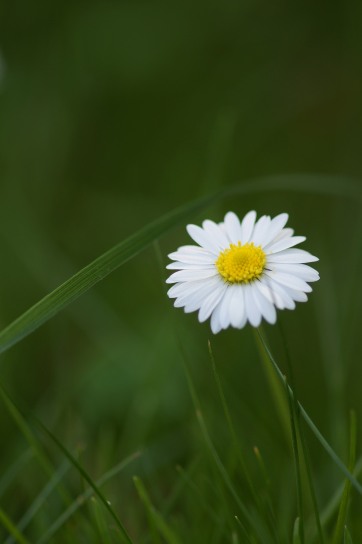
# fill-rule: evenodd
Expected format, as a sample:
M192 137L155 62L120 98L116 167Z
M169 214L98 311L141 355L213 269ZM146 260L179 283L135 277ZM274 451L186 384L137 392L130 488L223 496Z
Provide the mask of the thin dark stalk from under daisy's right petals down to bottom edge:
M287 343L287 340L286 340L286 336L285 336L285 333L284 333L284 327L283 327L283 324L281 322L281 319L278 320L278 323L279 323L280 335L281 335L281 339L282 339L282 342L283 342L283 345L284 345L286 361L287 361L288 370L289 370L290 379L291 379L293 399L294 399L294 413L296 415L297 424L298 424L300 444L302 444L304 464L305 464L306 473L307 473L307 476L308 476L308 483L309 483L310 495L311 495L311 498L312 498L314 516L316 518L316 525L317 525L317 530L318 530L320 543L323 544L323 533L322 533L322 527L321 527L321 520L320 520L319 511L318 511L316 494L314 492L314 485L313 485L312 474L311 474L309 459L308 459L308 452L306 450L306 444L305 444L305 440L304 440L304 431L303 431L302 419L300 418L299 403L298 403L298 399L297 399L297 389L296 389L296 384L295 384L295 381L294 381L290 350L289 350L289 346L288 346L288 343ZM300 524L303 524L302 518L300 519Z

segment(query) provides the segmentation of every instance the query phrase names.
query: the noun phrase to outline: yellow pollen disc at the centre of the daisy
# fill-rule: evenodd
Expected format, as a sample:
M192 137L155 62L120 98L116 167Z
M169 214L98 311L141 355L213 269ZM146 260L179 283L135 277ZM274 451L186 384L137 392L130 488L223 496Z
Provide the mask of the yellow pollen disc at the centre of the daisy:
M254 243L241 245L230 244L230 249L220 251L216 267L225 281L231 283L248 283L259 277L265 265L265 253L254 246Z

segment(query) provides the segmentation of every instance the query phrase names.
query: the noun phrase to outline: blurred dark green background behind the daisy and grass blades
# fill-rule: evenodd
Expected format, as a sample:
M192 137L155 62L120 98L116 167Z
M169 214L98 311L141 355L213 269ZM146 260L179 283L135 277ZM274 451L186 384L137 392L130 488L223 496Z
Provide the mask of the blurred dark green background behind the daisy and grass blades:
M151 220L217 189L289 173L361 178L361 16L362 5L351 0L3 0L0 326ZM288 226L307 237L304 249L321 259L310 301L279 317L299 398L347 462L348 409L362 419L359 202L277 191L271 180L267 191L220 201L193 222L221 221L229 209L240 217L249 209L259 216L288 212ZM188 243L185 225L162 238L164 265L170 251ZM146 518L133 474L144 479L159 509L180 484L177 464L195 463L206 496L212 479L171 312L220 456L243 486L209 338L251 472L258 474L257 445L279 522L290 535L297 511L290 442L253 331L212 337L197 314L173 310L164 279L148 248L4 353L1 380L71 451L78 442L87 445L84 464L94 478L143 450L106 489L140 541ZM286 372L278 327L265 331ZM27 446L3 404L0 420L6 473ZM323 506L343 478L308 432L307 439ZM58 466L62 457L44 444ZM78 480L73 472L68 481L75 494ZM15 521L46 481L34 459L24 464L1 499ZM217 495L210 500L222 508ZM357 493L351 508L360 511ZM186 488L169 510L187 528L186 541L218 542ZM58 514L43 513L29 539L36 541ZM351 535L361 535L361 519L351 523Z

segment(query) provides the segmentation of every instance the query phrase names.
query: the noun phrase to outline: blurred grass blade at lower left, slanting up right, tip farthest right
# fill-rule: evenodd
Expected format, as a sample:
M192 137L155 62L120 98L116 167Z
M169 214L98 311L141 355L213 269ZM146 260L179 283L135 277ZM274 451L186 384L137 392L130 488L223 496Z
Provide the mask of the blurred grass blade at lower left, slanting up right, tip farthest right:
M134 459L137 459L139 457L140 453L136 452L132 455L128 456L126 459L115 465L111 470L103 474L103 476L96 481L97 487L102 487L108 480L113 478L116 474L118 474L122 469L124 469L127 465L129 465ZM94 493L94 490L92 487L89 487L87 490L85 490L83 493L81 493L76 500L67 508L62 515L58 517L58 519L51 525L50 528L46 531L44 535L42 535L41 539L36 544L46 544L48 540L51 539L51 537L66 523L66 521L69 520L69 518L79 509L81 508L82 504L84 504L85 500L89 499L89 497ZM124 538L122 537L122 542L124 542Z

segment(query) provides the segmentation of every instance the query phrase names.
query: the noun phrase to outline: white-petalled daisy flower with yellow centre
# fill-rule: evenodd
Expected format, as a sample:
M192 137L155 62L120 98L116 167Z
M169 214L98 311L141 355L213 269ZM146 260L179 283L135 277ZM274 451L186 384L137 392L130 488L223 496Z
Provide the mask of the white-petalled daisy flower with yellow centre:
M184 245L169 255L175 262L167 268L177 272L166 280L175 283L168 296L186 313L198 310L200 323L211 316L214 334L230 325L242 329L247 322L257 327L262 318L274 324L275 308L294 310L294 301L308 300L312 288L306 282L319 279L303 264L319 259L293 247L305 237L284 228L287 213L255 220L254 211L242 221L228 212L219 224L206 219L203 228L187 225L199 245Z

